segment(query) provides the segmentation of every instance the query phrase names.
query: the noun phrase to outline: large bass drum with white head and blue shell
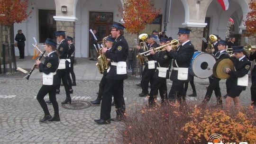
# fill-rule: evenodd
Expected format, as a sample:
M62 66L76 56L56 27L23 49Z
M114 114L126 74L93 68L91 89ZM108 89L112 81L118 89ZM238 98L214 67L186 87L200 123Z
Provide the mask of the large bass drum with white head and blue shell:
M216 60L211 54L194 52L190 62L190 72L198 78L206 79L213 74L214 63L216 63Z

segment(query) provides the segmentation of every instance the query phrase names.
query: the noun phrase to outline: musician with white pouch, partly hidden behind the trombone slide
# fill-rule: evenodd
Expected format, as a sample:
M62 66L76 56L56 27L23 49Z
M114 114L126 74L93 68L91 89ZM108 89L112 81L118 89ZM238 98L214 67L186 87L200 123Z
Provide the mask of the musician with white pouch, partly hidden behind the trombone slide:
M157 37L154 35L150 35L148 36L148 38L146 39L147 42L147 47L148 48L156 48L159 45L157 44ZM139 53L143 53L144 50L140 48L140 46L137 45L137 50L139 51ZM149 49L148 49L149 50ZM145 68L143 70L143 74L142 74L142 80L141 80L141 88L142 88L142 92L139 94L140 97L145 97L148 94L148 83L150 82L150 84L153 84L154 81L154 73L155 73L155 69L156 69L156 65L155 65L155 59L154 57L150 54L146 56L147 58L147 62L145 63Z

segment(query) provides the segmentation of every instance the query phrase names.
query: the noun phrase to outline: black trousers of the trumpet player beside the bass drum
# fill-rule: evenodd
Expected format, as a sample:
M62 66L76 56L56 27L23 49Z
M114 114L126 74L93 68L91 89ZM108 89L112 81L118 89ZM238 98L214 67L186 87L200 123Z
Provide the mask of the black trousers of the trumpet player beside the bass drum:
M181 102L181 100L185 99L184 96L184 83L186 81L173 81L173 85L168 94L168 99L175 101L176 99Z

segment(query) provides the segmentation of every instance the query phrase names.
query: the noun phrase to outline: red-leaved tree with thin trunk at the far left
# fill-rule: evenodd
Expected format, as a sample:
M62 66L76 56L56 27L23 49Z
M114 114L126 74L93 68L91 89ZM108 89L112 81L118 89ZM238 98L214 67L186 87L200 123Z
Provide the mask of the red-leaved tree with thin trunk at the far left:
M11 70L11 41L10 28L14 23L21 23L31 14L28 11L28 0L0 0L0 25L7 27L9 45L9 64Z

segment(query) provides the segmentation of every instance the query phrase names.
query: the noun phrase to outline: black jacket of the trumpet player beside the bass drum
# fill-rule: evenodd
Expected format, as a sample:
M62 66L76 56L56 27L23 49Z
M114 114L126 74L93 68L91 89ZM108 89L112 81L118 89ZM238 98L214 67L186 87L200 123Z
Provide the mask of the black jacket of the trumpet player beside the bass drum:
M183 46L182 45L178 46L176 51L171 50L168 55L171 59L174 59L173 60L174 67L189 68L190 61L192 59L193 54L194 54L194 45L192 45L192 43L189 41ZM174 62L175 60L178 66ZM191 78L192 78L192 75L190 74L190 72L188 72L188 80L184 80L184 81L190 81ZM182 81L182 80L178 80L178 71L175 71L175 70L172 71L170 80Z

